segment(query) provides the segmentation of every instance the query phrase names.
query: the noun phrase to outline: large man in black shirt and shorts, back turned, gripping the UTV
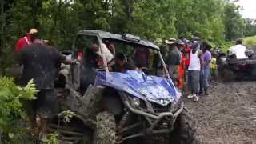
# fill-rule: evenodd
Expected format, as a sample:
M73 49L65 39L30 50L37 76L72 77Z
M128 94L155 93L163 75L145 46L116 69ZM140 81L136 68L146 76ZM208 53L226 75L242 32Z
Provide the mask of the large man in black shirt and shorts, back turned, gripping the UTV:
M40 118L38 132L45 135L49 119L58 112L54 80L59 66L61 63L73 64L76 61L67 60L55 47L44 45L39 38L34 38L31 45L20 50L17 58L19 66L23 66L18 84L26 86L27 82L33 79L36 88L40 90L37 99L26 104L30 106L26 108L26 113L33 129L37 127L36 116Z

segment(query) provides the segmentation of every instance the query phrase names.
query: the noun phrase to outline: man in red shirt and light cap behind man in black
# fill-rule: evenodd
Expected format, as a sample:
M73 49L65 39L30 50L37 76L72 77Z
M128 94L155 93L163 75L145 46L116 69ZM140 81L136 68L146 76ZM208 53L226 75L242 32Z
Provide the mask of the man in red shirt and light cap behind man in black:
M22 50L23 47L30 45L33 42L34 34L37 34L37 29L30 29L25 37L20 38L15 46L15 51Z

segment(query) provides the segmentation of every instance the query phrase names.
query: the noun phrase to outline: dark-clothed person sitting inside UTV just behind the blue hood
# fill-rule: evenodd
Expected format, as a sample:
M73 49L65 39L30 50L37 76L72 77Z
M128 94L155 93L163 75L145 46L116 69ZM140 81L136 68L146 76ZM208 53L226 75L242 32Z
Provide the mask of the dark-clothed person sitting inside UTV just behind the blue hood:
M118 53L114 58L114 65L111 66L111 71L125 73L126 70L135 70L136 66L127 62L125 54Z

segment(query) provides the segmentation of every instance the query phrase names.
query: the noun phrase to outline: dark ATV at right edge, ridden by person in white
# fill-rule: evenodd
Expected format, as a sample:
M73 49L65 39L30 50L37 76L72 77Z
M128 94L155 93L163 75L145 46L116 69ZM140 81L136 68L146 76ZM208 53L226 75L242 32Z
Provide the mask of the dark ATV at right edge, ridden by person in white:
M235 55L229 55L220 50L216 52L218 78L225 82L256 79L256 54L253 50L246 51L245 59L237 59Z

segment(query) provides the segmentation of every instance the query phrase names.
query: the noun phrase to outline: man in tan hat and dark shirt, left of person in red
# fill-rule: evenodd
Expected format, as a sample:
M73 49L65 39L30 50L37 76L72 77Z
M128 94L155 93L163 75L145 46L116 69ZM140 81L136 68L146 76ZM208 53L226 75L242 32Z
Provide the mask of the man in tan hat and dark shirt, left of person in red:
M169 46L170 51L167 54L166 65L168 66L170 78L172 78L174 84L178 85L178 65L181 63L181 53L177 47L177 41L174 38L166 40L166 44Z

